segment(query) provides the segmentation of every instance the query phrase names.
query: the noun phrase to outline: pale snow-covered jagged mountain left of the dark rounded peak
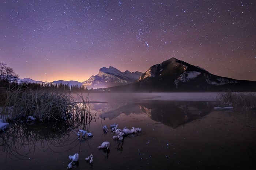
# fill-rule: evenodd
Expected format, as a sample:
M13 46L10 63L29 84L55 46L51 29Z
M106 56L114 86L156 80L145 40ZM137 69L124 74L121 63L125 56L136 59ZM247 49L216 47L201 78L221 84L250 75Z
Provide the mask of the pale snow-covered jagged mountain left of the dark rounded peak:
M142 75L141 72L121 72L114 67L102 67L96 76L91 76L88 80L84 81L82 85L87 88L108 88L112 86L129 84L137 81Z

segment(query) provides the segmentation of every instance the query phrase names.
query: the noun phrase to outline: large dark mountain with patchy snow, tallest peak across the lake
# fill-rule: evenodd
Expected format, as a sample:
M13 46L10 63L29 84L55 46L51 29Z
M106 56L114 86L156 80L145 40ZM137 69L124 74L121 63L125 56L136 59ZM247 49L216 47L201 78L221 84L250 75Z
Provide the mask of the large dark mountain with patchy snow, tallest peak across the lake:
M110 91L133 92L222 92L256 91L256 82L216 76L187 62L170 58L151 66L130 85L112 87Z

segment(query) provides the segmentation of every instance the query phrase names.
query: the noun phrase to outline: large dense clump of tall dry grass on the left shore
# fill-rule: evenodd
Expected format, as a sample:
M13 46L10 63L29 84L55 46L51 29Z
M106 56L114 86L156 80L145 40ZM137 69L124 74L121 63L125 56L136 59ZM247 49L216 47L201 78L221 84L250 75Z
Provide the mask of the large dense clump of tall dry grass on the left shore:
M70 93L57 90L30 90L16 86L6 90L4 96L0 118L5 121L29 116L38 121L66 120L78 108Z

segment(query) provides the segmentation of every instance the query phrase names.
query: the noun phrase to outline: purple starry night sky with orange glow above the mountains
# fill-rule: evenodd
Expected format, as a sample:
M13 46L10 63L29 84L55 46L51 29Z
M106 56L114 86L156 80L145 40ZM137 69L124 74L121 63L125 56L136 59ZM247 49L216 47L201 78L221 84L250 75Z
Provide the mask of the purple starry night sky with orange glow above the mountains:
M20 78L86 81L175 57L256 81L255 0L0 0L0 62Z

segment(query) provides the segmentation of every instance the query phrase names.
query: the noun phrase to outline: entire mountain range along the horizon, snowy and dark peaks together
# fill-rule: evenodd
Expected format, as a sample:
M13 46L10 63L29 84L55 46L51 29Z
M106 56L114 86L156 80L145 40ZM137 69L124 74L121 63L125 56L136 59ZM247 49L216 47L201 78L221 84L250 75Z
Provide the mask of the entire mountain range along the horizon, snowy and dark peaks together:
M21 81L42 83L29 78ZM50 82L43 82L50 83ZM110 66L102 67L99 73L84 82L53 81L54 84L84 85L88 89L111 92L222 92L256 91L256 81L236 80L216 76L207 70L187 62L170 58L151 66L145 73L121 72Z

